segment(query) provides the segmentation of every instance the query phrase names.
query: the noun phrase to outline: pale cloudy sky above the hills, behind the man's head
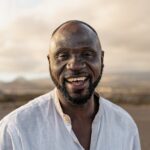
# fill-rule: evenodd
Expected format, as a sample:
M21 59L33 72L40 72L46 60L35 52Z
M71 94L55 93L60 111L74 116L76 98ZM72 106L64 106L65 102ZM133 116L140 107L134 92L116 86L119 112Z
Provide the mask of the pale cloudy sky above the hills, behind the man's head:
M104 72L150 72L149 0L0 0L0 80L49 76L53 30L82 20L97 31Z

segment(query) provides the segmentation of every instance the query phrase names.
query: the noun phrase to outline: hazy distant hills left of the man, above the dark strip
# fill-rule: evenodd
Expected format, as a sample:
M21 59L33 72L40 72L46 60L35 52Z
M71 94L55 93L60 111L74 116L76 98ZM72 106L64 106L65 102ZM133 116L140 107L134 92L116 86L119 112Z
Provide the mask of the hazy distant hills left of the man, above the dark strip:
M0 91L5 94L45 93L52 87L50 79L27 80L19 77L12 82L0 82Z

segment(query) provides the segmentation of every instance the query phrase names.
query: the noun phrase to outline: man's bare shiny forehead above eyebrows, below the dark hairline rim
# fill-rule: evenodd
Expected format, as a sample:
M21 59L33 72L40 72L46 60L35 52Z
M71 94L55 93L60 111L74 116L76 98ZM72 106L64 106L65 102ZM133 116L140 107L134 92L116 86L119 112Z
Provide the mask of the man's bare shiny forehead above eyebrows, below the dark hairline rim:
M101 49L96 33L83 24L69 24L61 27L50 42L51 51L61 48L82 49L83 47Z

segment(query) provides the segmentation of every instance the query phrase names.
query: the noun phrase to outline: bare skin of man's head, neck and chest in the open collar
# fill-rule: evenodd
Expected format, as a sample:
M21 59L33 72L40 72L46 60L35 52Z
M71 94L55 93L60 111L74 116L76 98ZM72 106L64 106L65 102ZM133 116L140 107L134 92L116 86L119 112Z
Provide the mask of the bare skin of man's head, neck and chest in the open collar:
M48 61L62 109L70 116L80 144L88 150L92 121L98 111L94 89L103 70L97 34L82 22L63 24L51 38ZM85 80L70 82L70 78L76 77Z

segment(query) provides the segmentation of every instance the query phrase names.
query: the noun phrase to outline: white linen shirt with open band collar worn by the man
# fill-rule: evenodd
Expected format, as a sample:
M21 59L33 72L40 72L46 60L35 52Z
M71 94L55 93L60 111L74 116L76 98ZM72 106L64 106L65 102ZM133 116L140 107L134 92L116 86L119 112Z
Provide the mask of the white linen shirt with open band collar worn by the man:
M138 129L129 114L99 98L90 150L140 150ZM0 150L84 150L64 114L56 89L35 98L0 121Z

